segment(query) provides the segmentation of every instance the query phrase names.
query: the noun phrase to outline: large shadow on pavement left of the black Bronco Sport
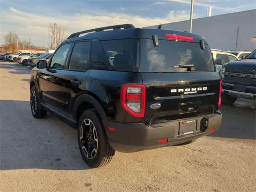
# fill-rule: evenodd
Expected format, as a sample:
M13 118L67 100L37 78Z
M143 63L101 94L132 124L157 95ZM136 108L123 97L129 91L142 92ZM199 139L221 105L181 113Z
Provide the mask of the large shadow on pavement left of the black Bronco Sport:
M33 118L30 102L0 100L0 170L85 170L77 131L48 113Z

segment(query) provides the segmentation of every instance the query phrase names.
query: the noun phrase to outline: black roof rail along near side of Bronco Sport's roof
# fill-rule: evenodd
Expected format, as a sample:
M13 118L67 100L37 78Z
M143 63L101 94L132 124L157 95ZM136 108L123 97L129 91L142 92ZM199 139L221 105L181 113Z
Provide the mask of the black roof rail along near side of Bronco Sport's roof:
M134 25L132 24L122 24L122 25L113 25L113 26L107 26L107 27L100 27L100 28L95 28L95 29L89 29L89 30L85 30L85 31L80 31L80 32L76 32L71 34L70 36L68 36L67 39L70 38L75 38L78 37L80 34L84 34L84 33L89 33L89 32L100 32L100 31L104 31L106 29L113 29L113 30L118 30L118 29L130 29L130 28L135 28Z

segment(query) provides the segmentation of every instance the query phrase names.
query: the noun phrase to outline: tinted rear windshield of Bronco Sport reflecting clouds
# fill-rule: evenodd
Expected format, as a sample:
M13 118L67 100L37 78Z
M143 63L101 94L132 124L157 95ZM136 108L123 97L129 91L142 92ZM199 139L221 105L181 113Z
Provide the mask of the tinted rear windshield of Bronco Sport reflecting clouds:
M188 68L173 66L191 65ZM152 39L142 39L140 55L141 72L200 72L214 71L214 63L210 48L205 49L199 43L159 40L155 47Z

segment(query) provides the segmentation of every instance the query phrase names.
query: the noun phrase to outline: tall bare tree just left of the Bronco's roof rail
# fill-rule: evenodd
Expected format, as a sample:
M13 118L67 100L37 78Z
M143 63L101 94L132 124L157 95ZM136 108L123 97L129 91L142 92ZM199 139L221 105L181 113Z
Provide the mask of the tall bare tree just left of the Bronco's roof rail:
M48 46L49 49L52 49L53 45L55 45L56 42L56 47L59 46L59 44L68 37L66 28L61 25L57 25L54 23L49 24L49 29L48 29Z

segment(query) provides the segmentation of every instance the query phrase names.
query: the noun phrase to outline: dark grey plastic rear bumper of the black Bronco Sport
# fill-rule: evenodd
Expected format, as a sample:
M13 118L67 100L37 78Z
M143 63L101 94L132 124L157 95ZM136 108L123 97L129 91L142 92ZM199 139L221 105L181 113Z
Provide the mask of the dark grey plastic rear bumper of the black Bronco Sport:
M179 135L180 121L184 120L196 120L196 131L191 134ZM194 140L209 134L211 128L214 128L214 131L218 130L221 122L220 111L206 116L151 125L109 122L109 126L115 128L115 131L107 131L107 136L108 142L114 150L136 152ZM168 142L159 144L161 139L168 139Z

